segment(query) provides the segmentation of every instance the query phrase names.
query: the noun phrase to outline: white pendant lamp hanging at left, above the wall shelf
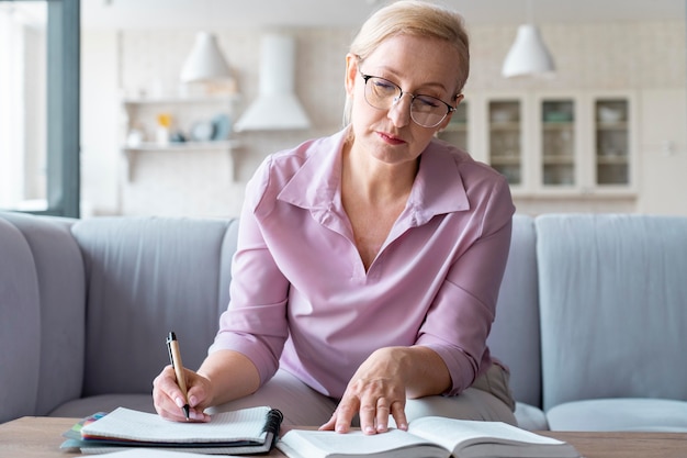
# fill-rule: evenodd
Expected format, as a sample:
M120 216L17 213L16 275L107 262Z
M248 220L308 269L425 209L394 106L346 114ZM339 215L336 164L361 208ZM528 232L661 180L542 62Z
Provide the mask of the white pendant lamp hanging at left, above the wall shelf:
M182 82L222 81L232 78L215 36L207 32L199 32L191 54L181 68Z

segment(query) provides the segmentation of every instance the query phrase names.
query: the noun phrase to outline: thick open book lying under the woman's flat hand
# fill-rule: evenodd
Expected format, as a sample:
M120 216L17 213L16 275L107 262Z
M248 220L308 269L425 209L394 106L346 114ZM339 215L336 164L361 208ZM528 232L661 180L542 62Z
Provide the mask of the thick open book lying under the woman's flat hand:
M356 431L291 429L277 443L290 458L578 458L570 444L502 422L478 422L426 416L408 431L364 435Z

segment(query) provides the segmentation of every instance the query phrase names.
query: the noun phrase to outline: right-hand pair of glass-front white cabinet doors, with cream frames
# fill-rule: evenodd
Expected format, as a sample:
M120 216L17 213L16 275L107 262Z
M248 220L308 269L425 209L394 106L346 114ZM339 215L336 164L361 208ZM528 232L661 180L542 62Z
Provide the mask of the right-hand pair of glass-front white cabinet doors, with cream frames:
M533 182L543 193L631 196L637 163L630 92L538 93Z

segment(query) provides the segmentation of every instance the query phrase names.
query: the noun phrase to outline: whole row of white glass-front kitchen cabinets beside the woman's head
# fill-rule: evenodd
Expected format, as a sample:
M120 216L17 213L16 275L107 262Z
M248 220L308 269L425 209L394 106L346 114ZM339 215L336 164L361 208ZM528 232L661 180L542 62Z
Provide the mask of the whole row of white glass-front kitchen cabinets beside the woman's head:
M514 197L632 198L635 105L631 91L471 94L440 137L503 174Z

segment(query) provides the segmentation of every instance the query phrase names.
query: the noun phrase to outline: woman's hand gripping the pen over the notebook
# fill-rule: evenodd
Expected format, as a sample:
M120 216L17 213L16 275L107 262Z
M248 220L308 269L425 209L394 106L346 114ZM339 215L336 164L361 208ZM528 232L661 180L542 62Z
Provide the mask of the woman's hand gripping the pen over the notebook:
M184 375L190 406L189 420L193 422L209 422L210 415L204 413L204 410L210 406L211 402L212 387L210 380L185 368ZM153 380L153 402L155 410L161 417L176 422L187 421L182 410L185 400L177 384L174 369L171 365L165 367L160 375Z

